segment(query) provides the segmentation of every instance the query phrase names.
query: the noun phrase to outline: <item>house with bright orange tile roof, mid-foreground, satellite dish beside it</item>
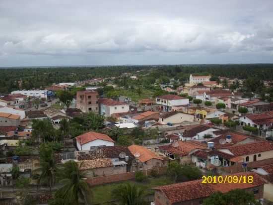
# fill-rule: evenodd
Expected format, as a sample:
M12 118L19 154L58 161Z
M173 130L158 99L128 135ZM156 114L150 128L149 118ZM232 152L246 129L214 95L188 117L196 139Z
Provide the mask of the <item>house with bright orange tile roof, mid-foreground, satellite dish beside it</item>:
M138 169L151 169L153 167L165 166L164 159L157 156L154 152L139 145L131 145L128 147L130 152L135 156L136 162L133 164L134 171Z

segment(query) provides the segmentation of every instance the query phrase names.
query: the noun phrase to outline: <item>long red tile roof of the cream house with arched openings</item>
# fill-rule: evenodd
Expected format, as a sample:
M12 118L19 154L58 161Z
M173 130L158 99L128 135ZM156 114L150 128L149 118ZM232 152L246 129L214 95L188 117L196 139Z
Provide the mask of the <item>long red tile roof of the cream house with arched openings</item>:
M256 154L273 150L273 144L268 141L258 141L248 144L242 144L227 148L234 156L243 156L248 154ZM218 150L221 152L220 150ZM233 156L233 157L234 157Z

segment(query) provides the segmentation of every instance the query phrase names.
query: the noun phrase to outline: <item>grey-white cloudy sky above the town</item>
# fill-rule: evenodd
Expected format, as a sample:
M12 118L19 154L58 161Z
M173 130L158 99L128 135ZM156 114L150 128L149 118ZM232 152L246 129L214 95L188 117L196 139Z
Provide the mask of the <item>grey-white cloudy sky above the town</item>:
M273 0L0 0L0 67L273 63Z

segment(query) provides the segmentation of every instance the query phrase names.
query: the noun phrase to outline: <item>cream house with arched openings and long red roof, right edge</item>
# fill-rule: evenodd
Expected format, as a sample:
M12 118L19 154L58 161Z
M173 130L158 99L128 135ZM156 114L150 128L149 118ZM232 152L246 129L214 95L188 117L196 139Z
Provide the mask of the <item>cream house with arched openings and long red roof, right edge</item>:
M231 166L238 162L253 162L269 159L273 156L273 144L257 141L215 150L222 166Z

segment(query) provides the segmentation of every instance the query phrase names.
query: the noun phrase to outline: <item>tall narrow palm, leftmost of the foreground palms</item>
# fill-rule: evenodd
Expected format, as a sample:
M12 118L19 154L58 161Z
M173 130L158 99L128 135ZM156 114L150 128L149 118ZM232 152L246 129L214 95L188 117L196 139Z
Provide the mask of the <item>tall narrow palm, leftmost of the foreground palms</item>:
M41 173L38 183L46 183L51 191L52 186L55 184L57 173L57 166L52 146L50 144L42 144L39 149L39 156L40 168L35 170L35 172Z

